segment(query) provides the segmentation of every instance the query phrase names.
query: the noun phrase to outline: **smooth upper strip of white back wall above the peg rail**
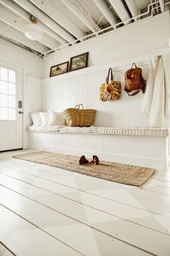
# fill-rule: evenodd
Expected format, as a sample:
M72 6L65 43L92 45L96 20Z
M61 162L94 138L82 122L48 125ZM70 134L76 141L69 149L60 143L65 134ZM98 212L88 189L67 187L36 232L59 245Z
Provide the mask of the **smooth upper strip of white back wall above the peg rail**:
M169 47L169 12L140 20L117 30L112 30L97 38L91 38L77 45L57 51L44 61L43 78L49 77L50 67L60 64L78 54L89 51L89 67L112 64L126 59L136 61L136 56Z

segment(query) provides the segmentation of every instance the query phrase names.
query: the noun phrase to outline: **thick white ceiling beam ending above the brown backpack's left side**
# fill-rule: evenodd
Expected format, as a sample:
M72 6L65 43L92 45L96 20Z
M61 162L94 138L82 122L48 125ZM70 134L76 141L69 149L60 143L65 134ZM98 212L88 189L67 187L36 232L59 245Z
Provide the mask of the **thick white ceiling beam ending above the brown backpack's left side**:
M122 20L124 24L128 24L129 22L124 21L130 19L130 15L123 2L121 0L109 0L109 3L112 4L113 9L115 9L115 12L120 17L120 20Z

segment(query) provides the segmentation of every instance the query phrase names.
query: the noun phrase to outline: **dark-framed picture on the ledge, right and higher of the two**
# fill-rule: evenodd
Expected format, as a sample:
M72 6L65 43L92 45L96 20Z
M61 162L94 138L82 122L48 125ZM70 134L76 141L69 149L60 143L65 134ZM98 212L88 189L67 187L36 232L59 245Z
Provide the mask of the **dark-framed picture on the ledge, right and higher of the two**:
M87 67L89 53L80 54L71 58L70 71Z

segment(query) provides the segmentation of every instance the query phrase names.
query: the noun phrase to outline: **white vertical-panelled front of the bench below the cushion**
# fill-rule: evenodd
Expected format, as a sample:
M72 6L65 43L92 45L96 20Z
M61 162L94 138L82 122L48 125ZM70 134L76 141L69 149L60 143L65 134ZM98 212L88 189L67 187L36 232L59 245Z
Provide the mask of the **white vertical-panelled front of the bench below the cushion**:
M29 132L29 148L100 159L166 171L168 137Z

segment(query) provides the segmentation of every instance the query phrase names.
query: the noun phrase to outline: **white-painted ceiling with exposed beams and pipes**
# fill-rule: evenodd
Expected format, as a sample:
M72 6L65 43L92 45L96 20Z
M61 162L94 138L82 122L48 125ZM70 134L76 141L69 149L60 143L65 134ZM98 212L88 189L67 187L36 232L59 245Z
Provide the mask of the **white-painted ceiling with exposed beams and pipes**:
M44 54L74 40L79 43L91 33L97 36L99 30L117 22L126 25L131 22L126 20L140 14L148 4L150 0L0 0L0 36L35 54ZM24 36L31 14L43 30L39 41Z

